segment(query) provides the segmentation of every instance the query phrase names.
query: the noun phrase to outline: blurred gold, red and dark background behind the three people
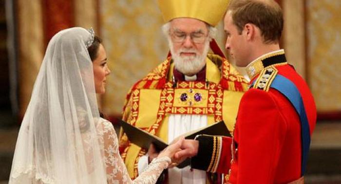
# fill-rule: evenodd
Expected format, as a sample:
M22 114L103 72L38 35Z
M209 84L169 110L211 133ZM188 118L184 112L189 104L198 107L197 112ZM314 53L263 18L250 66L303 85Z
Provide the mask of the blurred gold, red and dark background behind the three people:
M341 184L341 0L276 1L284 10L281 46L318 110L305 182ZM103 39L112 73L98 100L115 124L129 88L167 56L162 24L156 0L0 0L0 184L7 183L19 126L54 34L93 27ZM223 49L222 28L221 22Z

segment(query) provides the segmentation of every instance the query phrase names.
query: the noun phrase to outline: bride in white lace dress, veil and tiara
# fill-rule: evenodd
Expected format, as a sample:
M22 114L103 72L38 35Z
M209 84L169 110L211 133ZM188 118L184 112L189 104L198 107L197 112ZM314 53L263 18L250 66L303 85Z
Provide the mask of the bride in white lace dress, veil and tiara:
M182 140L131 181L113 125L100 117L96 93L110 74L93 30L62 30L49 42L23 118L9 184L153 184Z

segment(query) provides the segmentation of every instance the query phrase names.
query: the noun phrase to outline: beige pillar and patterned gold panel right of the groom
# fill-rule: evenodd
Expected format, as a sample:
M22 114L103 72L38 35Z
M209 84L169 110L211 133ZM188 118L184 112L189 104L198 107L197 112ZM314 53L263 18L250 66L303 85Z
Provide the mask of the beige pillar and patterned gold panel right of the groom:
M308 81L320 114L341 113L341 0L283 0L282 5L288 61Z

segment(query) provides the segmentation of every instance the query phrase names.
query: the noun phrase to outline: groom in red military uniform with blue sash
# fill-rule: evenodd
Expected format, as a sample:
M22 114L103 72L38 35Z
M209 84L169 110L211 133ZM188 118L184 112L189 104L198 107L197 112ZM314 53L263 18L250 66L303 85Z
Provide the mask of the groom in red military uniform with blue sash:
M191 168L228 173L231 184L303 184L316 107L280 49L280 6L274 0L233 0L224 29L227 51L251 79L233 137L185 140L175 157L192 157Z

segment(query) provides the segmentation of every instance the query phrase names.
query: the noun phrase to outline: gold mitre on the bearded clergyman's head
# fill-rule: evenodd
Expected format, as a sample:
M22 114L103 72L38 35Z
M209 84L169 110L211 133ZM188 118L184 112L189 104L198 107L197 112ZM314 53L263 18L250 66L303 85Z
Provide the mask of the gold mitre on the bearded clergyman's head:
M196 18L216 26L223 18L228 0L157 0L165 22L173 18Z

